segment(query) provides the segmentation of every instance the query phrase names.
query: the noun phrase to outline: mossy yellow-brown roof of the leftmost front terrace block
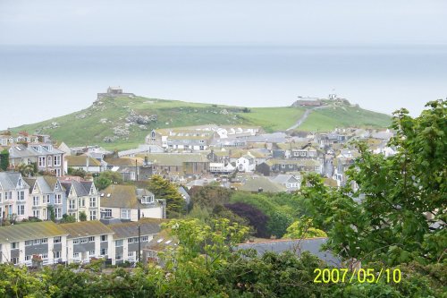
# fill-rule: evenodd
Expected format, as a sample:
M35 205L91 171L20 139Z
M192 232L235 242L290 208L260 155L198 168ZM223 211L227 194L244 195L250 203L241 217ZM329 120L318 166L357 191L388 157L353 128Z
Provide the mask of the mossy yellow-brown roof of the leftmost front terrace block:
M0 243L14 243L30 239L47 238L68 234L52 221L26 223L0 227Z

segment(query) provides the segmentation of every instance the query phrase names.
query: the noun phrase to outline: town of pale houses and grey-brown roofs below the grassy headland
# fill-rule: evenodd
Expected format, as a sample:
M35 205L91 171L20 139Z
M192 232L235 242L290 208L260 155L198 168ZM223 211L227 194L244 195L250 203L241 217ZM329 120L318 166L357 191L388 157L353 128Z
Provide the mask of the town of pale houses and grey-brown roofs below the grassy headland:
M135 95L119 88L98 94L98 100L114 97ZM318 98L293 104L321 105ZM153 129L138 148L112 151L96 144L69 147L46 134L5 131L0 134L0 262L34 267L36 261L157 261L159 250L177 245L159 235L160 224L194 212L194 193L207 187L293 193L309 174L320 176L327 187L350 183L356 191L346 175L359 156L354 143L363 141L374 154L390 157L396 152L388 145L393 135L385 128L265 132L258 126L207 124ZM180 209L173 211L169 199L149 190L155 179L173 187L182 200ZM283 245L278 236L265 237L264 245ZM308 241L316 246L304 250L323 256L319 248L325 238ZM339 262L330 254L323 258Z

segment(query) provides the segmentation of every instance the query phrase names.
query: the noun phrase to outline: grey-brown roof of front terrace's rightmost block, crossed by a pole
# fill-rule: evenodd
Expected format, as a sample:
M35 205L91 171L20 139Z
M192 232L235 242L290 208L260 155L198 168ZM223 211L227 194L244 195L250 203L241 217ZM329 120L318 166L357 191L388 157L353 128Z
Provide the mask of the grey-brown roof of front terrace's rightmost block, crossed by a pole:
M156 218L141 218L138 222L127 222L122 224L111 224L108 227L114 231L114 239L138 237L139 229L141 235L158 234L161 230L160 224L164 220Z

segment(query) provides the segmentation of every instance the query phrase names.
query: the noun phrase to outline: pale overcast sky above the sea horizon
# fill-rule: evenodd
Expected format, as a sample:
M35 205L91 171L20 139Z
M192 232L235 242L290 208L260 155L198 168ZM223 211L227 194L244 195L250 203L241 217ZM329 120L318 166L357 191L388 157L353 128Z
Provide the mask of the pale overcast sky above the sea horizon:
M0 45L447 44L445 0L0 0Z

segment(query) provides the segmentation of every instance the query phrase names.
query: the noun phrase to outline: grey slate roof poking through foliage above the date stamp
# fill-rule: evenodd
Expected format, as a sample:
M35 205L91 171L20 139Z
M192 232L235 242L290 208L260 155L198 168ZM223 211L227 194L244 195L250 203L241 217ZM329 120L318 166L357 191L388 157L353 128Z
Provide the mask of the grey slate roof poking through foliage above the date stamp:
M327 238L300 239L300 240L272 240L260 243L241 243L236 250L254 249L258 255L263 255L267 251L281 253L283 251L295 251L297 255L301 251L309 251L321 260L325 260L329 265L340 265L342 260L335 257L330 251L320 251Z

